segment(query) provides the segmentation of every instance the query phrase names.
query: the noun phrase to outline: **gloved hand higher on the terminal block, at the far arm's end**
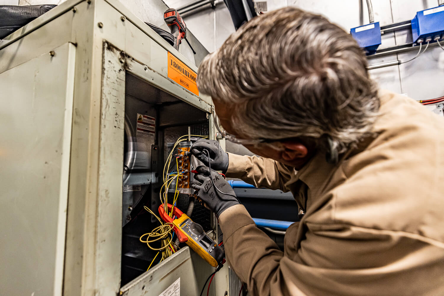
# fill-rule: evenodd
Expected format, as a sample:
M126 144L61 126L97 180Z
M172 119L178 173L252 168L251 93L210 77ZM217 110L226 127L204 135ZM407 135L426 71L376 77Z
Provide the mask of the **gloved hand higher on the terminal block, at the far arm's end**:
M190 152L198 160L209 166L208 154L210 154L210 166L214 170L221 170L223 174L228 170L228 154L222 150L218 141L198 139L191 146ZM217 174L217 173L216 173Z

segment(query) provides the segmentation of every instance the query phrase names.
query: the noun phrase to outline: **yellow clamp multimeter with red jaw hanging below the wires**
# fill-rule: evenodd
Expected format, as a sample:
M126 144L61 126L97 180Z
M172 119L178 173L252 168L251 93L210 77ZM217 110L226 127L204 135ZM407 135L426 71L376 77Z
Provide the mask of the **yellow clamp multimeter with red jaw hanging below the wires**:
M172 205L167 204L167 206L168 209L171 210ZM190 217L182 213L181 210L174 207L173 214L178 218L173 220L173 218L166 214L163 205L160 205L159 214L163 221L173 223L173 229L179 241L182 243L185 242L211 266L218 267L218 265L222 265L225 262L225 252L221 247L206 235L200 224L194 223Z

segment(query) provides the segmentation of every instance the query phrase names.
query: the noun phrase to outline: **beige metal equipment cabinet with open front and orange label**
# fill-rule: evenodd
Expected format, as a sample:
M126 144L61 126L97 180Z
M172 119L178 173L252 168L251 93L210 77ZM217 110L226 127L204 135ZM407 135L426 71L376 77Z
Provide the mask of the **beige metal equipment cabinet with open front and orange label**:
M168 78L169 53L197 72L116 0L67 1L0 41L2 295L158 296L179 278L199 294L214 269L188 247L121 287L128 98L192 107L159 128L197 116L215 134L211 99Z

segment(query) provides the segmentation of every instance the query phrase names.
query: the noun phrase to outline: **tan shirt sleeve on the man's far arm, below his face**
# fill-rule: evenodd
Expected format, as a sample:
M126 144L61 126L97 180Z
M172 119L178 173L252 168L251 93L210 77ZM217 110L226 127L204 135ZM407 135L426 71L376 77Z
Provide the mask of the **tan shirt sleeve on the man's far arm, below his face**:
M238 178L256 187L289 191L284 184L289 181L292 173L280 162L271 158L232 153L228 153L228 160L226 177Z

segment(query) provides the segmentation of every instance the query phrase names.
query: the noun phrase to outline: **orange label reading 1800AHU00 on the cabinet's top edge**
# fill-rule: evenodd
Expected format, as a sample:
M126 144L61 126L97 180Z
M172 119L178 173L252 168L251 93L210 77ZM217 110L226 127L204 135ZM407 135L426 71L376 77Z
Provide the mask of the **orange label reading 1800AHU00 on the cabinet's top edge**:
M196 84L197 74L170 52L168 52L168 78L193 94L199 95Z

